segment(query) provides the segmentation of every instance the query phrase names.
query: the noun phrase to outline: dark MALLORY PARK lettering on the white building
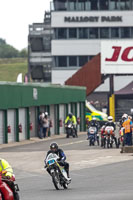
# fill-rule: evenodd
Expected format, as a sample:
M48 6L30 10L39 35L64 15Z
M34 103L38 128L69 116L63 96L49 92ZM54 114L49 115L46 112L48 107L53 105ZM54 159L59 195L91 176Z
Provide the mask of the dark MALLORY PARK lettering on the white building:
M122 22L122 16L75 16L64 17L64 22Z

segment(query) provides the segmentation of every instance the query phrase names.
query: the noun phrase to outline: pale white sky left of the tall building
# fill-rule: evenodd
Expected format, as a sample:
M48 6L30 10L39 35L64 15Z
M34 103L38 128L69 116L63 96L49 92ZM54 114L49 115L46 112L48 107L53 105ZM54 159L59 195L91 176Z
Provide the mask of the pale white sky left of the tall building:
M0 0L0 38L18 50L27 47L29 25L42 23L51 0Z

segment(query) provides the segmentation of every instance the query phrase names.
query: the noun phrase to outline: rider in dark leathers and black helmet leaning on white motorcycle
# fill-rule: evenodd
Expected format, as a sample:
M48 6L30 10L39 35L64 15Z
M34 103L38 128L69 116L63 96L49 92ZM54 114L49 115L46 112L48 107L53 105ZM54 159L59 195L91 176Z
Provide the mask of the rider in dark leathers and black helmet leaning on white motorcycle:
M47 152L46 158L50 153L55 153L59 157L58 162L59 162L60 166L64 166L64 168L67 172L68 180L70 181L71 178L69 176L69 163L65 161L66 155L63 152L63 150L58 147L58 144L56 142L53 142L50 144L50 150ZM45 167L46 167L46 159L44 160L44 163L45 163ZM47 171L50 174L48 169L47 169Z

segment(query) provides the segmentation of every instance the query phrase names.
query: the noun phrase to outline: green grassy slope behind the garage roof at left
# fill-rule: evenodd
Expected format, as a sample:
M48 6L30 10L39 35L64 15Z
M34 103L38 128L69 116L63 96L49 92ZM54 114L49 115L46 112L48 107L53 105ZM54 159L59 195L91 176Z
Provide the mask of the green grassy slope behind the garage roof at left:
M19 73L23 74L28 70L26 58L0 59L0 81L16 82Z

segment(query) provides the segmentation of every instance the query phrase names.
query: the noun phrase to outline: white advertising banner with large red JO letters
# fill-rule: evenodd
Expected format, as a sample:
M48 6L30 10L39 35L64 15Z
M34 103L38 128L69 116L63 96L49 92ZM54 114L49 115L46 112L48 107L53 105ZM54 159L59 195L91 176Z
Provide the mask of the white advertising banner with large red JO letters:
M102 74L133 74L133 40L101 42Z

